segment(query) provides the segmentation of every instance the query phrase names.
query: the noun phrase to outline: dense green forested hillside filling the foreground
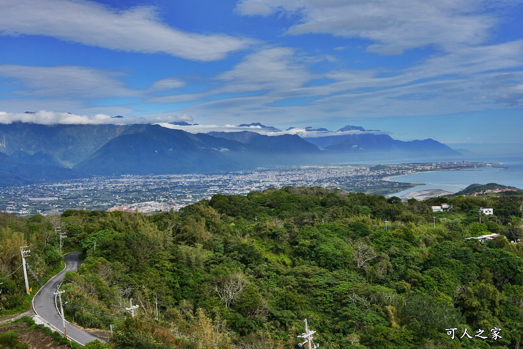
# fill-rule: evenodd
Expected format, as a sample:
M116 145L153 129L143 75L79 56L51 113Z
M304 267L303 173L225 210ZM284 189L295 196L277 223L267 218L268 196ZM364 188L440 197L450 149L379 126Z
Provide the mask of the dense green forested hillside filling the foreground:
M287 187L148 216L66 211L66 247L83 249L85 262L66 275L65 311L86 327L116 324L107 343L114 348L292 348L305 318L328 348L518 348L523 250L510 240L521 234L521 200L404 203ZM428 210L441 202L452 210ZM480 223L480 206L497 216ZM34 243L49 231L47 217L2 217L2 244ZM488 232L508 239L464 240ZM39 248L56 251L56 240ZM126 320L130 298L139 308ZM460 339L465 328L472 339Z

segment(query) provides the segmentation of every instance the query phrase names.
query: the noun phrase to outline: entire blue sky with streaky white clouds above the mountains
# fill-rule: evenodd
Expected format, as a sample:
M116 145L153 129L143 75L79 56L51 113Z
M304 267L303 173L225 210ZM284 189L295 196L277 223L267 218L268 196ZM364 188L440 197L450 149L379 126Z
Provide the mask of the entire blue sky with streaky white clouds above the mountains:
M523 149L522 1L5 0L0 14L0 122L356 125Z

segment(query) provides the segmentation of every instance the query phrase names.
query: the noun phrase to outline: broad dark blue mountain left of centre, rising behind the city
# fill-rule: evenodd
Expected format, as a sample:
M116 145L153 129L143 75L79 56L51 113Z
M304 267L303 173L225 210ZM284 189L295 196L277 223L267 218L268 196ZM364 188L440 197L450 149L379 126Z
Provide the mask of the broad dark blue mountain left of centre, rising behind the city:
M191 134L158 125L133 125L73 169L89 175L238 170L247 165L248 157L241 155L249 150L255 151L240 142L207 134ZM237 154L240 156L236 158Z

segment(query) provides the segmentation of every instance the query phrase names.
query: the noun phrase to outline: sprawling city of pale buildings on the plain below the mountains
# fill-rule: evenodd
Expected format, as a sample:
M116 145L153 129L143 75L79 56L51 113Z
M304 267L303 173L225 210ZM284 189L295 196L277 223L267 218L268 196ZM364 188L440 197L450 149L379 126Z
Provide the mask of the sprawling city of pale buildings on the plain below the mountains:
M68 209L155 212L179 210L214 194L245 195L286 186L321 186L346 192L390 194L412 186L384 179L425 171L481 167L444 162L393 165L309 165L214 174L94 177L0 188L0 210L16 215L58 215Z

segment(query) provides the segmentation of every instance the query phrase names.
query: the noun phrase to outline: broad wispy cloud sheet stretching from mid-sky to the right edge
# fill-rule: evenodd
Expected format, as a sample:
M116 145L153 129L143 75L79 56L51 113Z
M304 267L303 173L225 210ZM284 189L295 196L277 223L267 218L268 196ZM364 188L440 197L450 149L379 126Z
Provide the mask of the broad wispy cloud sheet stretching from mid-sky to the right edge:
M264 59L260 59L264 57ZM198 100L187 107L199 119L232 122L284 121L304 126L306 120L420 116L510 108L522 105L523 41L462 47L435 54L402 69L332 69L312 73L305 57L291 49L269 49L248 55L218 76L222 85L205 93L168 96ZM263 63L262 63L263 62ZM261 67L265 65L265 67ZM289 68L290 67L290 68ZM289 68L289 69L288 69ZM310 86L313 79L328 83ZM209 99L224 91L258 91L258 95ZM277 102L305 101L291 104ZM281 127L280 127L281 128Z

